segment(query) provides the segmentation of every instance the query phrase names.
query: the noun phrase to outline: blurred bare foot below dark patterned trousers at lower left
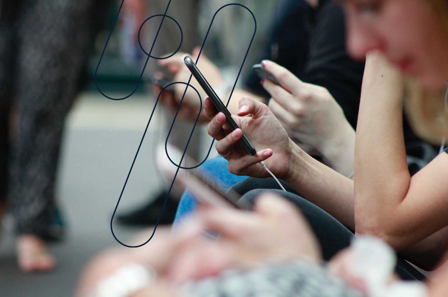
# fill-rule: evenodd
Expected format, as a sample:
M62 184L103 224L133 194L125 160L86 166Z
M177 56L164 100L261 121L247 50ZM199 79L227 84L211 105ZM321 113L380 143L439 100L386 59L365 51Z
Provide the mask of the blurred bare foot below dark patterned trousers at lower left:
M49 271L56 266L56 259L49 253L44 241L34 235L17 238L17 260L24 272Z

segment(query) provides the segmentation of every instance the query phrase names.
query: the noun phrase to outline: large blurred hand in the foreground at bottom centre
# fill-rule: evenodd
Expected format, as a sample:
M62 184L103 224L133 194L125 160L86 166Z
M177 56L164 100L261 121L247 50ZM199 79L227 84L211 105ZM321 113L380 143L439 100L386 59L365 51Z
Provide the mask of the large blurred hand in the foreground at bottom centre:
M218 240L196 241L188 253L177 254L181 257L173 259L167 272L167 278L177 283L230 267L253 268L266 261L300 258L318 262L322 258L317 239L297 207L273 194L258 197L254 212L201 206L185 224L197 234L213 230L220 236Z

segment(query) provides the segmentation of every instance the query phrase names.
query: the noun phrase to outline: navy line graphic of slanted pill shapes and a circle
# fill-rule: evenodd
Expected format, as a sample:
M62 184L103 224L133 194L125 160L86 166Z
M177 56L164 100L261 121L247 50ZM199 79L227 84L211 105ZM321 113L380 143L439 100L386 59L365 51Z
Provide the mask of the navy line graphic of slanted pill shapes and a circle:
M145 54L146 54L148 57L146 58L145 65L144 65L144 67L143 67L142 73L140 74L140 79L139 79L139 81L138 81L138 83L137 83L137 85L136 85L134 91L131 92L128 96L125 96L125 97L123 97L123 98L112 98L112 97L109 97L109 96L105 95L105 94L99 89L99 86L98 86L98 83L97 83L97 79L96 79L96 74L97 74L97 72L98 72L98 68L99 68L99 65L100 65L100 63L101 63L101 60L103 59L104 52L106 51L106 48L107 48L107 46L108 46L109 39L110 39L110 37L111 37L111 35L112 35L112 32L113 32L113 29L114 29L114 27L115 27L115 25L116 25L116 21L117 21L117 19L118 19L118 16L119 16L119 14L120 14L120 11L121 11L121 8L122 8L122 6L123 6L124 1L125 1L125 0L123 0L123 1L121 2L120 8L118 9L118 13L117 13L116 18L115 18L115 21L114 21L114 23L113 23L113 25L112 25L111 32L110 32L110 34L109 34L109 36L108 36L108 39L107 39L107 41L106 41L106 44L105 44L104 49L103 49L103 52L101 53L101 57L99 58L98 65L97 65L96 70L95 70L95 85L96 85L96 87L98 88L98 91L101 93L101 95L103 95L104 97L106 97L106 98L108 98L108 99L111 99L111 100L124 100L124 99L129 98L130 96L132 96L132 95L135 93L135 91L137 90L137 88L138 88L138 86L139 86L139 84L140 84L140 81L141 81L141 79L142 79L143 73L144 73L144 71L145 71L145 69L146 69L146 65L147 65L147 63L148 63L148 61L149 61L149 58L150 58L150 57L153 57L153 56L151 56L151 52L152 52L152 49L154 48L155 41L156 41L156 39L157 39L157 37L158 37L158 35L159 35L159 31L160 31L160 28L162 27L162 24L163 24L163 21L164 21L164 18L165 18L165 17L168 17L168 18L172 19L174 22L176 22L176 23L177 23L177 26L179 27L179 29L180 29L180 31L181 31L181 43L180 43L179 47L177 48L177 50L176 50L172 55L174 55L174 54L181 48L182 40L183 40L183 33L182 33L181 26L179 25L179 23L178 23L174 18L172 18L172 17L170 17L170 16L168 16L168 15L166 14L167 11L168 11L168 7L169 7L169 5L170 5L170 3L171 3L171 0L169 0L168 5L167 5L167 8L165 9L165 13L164 13L164 14L156 14L156 15L153 15L153 16L151 16L151 17L148 17L148 18L142 23L142 25L140 26L140 29L139 29L139 31L138 31L138 43L140 44L140 48L142 48L142 51L145 52ZM227 103L226 103L226 107L228 106L228 104L229 104L229 102L230 102L230 99L232 98L233 91L235 90L235 87L236 87L236 85L237 85L238 79L239 79L239 77L240 77L240 75L241 75L241 70L242 70L242 68L243 68L243 66L244 66L244 63L246 62L247 55L248 55L248 53L249 53L250 47L251 47L251 45L252 45L252 42L254 41L255 33L256 33L256 31L257 31L257 20L255 19L254 13L252 13L252 11L251 11L249 8L247 8L245 5L243 5L243 4L229 3L229 4L225 4L225 5L221 6L220 9L218 9L218 10L215 12L215 14L213 15L213 18L211 19L210 26L208 27L207 34L205 35L204 41L202 42L201 50L199 51L198 57L197 57L197 59L196 59L196 64L197 64L198 61L199 61L199 57L201 56L202 49L204 48L205 42L207 41L208 34L209 34L209 32L210 32L211 26L213 25L213 21L215 20L216 15L220 12L221 9L224 9L225 7L230 6L230 5L241 6L241 7L243 7L244 9L246 9L247 11L249 11L250 14L252 15L252 17L254 18L254 25L255 25L255 28L254 28L254 34L252 35L252 38L250 39L250 44L249 44L249 46L248 46L248 48L247 48L246 54L245 54L244 59L243 59L243 61L242 61L242 63L241 63L240 70L238 71L237 78L236 78L236 80L235 80L235 83L233 84L232 91L230 92L230 96L228 97L228 100L227 100ZM158 29L158 31L157 31L157 34L155 35L155 39L154 39L153 44L152 44L152 46L151 46L151 50L149 51L149 54L148 54L148 53L146 53L146 51L145 51L144 48L142 47L142 44L140 43L140 31L142 30L142 26L144 25L144 23L145 23L147 20L149 20L149 19L152 18L152 17L156 17L156 16L162 16L162 21L160 22L159 29ZM167 56L167 57L153 57L153 58L155 58L155 59L166 59L166 58L168 58L168 57L171 57L172 55ZM166 202L167 202L167 200L168 200L168 196L169 196L169 194L170 194L170 192L171 192L171 190L172 190L172 186L173 186L173 184L174 184L174 182L175 182L175 180L176 180L176 176L177 176L177 173L179 172L179 169L193 169L193 168L196 168L196 167L198 167L198 166L201 166L205 161L207 161L207 158L208 158L208 156L210 155L210 152L211 152L211 148L213 147L213 143L215 142L214 139L211 141L210 148L208 149L207 156L206 156L206 157L204 158L204 160L203 160L202 162L200 162L198 165L196 165L196 166L192 166L192 167L183 167L183 166L180 166L180 164L182 164L183 158L184 158L185 153L186 153L186 151L187 151L188 145L190 144L190 140L191 140L191 137L192 137L192 135L193 135L194 129L196 128L196 125L197 125L197 123L198 123L198 119L199 119L200 111L202 110L202 98L201 98L201 96L199 95L198 90L196 90L196 88L194 88L194 87L190 84L190 81L191 81L192 77L193 77L193 75L190 75L190 79L188 80L187 83L184 83L184 82L174 82L174 83L170 83L170 84L168 84L167 86L165 86L165 87L162 89L162 91L159 93L159 96L157 96L157 100L155 101L154 108L152 109L152 112L151 112L151 116L150 116L150 118L149 118L149 120L148 120L148 123L147 123L147 125L146 125L145 131L143 132L142 140L140 141L140 144L138 145L137 152L136 152L136 154L135 154L135 157L134 157L134 160L133 160L133 162L132 162L132 165L131 165L131 167L130 167L130 169L129 169L129 173L128 173L127 177L126 177L125 184L123 185L123 188L122 188L121 193L120 193L120 197L118 198L118 201L117 201L117 203L116 203L115 209L114 209L114 211L113 211L112 218L111 218L111 222L110 222L110 227L111 227L112 236L115 238L115 240L116 240L119 244L124 245L124 246L126 246L126 247L128 247L128 248L138 248L138 247L141 247L141 246L143 246L143 245L146 245L146 244L152 239L152 237L153 237L154 234L155 234L155 230L157 229L157 226L159 225L160 218L161 218L162 214L164 213L164 209L165 209ZM153 232L152 232L152 234L151 234L151 237L150 237L148 240L146 240L144 243L140 244L140 245L126 245L126 244L124 244L123 242L121 242L121 241L115 236L115 233L114 233L114 231L113 231L113 226L112 226L113 218L114 218L114 216L115 216L115 213L116 213L116 210L117 210L117 208L118 208L118 205L120 204L120 200L121 200L121 197L122 197L122 195L123 195L123 192L125 191L126 184L127 184L127 182L128 182L128 179L129 179L129 176L130 176L130 174L131 174L132 168L134 167L134 163L135 163L135 160L137 159L138 152L140 151L140 148L141 148L141 146L142 146L143 140L144 140L145 135L146 135L146 131L148 130L149 124L151 123L151 119L152 119L152 116L153 116L153 114L154 114L155 108L157 107L157 103L159 102L159 98L160 98L161 94L164 92L164 90L165 90L167 87L169 87L169 86L171 86L171 85L173 85L173 84L176 84L176 83L182 83L182 84L185 84L186 86L185 86L185 91L184 91L184 94L182 95L181 101L179 102L179 106L178 106L178 108L177 108L176 114L174 115L173 121L172 121L172 123L171 123L171 127L170 127L170 129L169 129L169 131L168 131L167 138L166 138L166 140L165 140L165 153L166 153L168 159L170 160L170 162L172 162L172 164L174 164L175 166L177 166L176 174L174 175L174 178L172 179L171 186L170 186L170 188L169 188L169 190L168 190L168 194L167 194L167 196L165 197L164 205L162 206L162 210L160 211L159 218L157 219L157 222L156 222L156 224L155 224L155 227L154 227L154 230L153 230ZM167 144L168 144L168 138L169 138L169 135L171 134L172 127L174 126L174 123L176 122L177 114L179 114L179 110L181 109L182 101L184 100L185 93L186 93L188 87L192 87L192 88L194 89L194 91L198 94L199 101L200 101L200 109L199 109L198 115L197 115L197 117L196 117L196 121L194 122L194 126L193 126L193 128L192 128L192 130L191 130L191 132L190 132L190 137L189 137L189 139L188 139L188 141L187 141L187 144L186 144L186 146L185 146L184 152L183 152L182 157L181 157L181 161L179 162L179 164L176 164L176 163L173 162L172 159L169 157L168 150L167 150Z

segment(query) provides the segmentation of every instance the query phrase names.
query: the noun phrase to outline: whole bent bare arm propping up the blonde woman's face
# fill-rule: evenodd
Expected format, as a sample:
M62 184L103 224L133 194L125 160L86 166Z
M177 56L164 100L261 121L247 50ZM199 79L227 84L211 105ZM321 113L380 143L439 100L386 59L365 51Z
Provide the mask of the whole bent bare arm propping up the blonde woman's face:
M448 155L439 155L410 178L402 98L401 75L382 56L370 54L355 144L356 231L380 236L397 250L448 224Z

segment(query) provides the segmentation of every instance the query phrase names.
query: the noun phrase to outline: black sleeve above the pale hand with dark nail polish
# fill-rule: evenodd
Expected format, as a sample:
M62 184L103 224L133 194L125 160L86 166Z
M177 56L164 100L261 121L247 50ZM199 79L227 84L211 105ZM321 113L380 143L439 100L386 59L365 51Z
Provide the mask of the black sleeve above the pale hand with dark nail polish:
M342 8L325 1L314 17L309 59L303 80L326 87L356 128L361 96L364 61L353 61L345 48L345 24Z

